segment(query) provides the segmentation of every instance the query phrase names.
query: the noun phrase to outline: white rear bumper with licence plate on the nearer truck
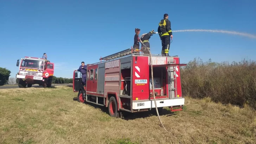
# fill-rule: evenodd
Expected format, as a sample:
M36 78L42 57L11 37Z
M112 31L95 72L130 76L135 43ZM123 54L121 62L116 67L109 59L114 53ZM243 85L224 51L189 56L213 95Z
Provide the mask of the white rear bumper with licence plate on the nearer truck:
M168 107L168 106L180 106L184 105L185 99L184 98L177 98L177 99L164 99L164 100L155 100L157 107ZM145 102L132 102L133 109L149 109L155 108L155 102L153 100L148 100Z

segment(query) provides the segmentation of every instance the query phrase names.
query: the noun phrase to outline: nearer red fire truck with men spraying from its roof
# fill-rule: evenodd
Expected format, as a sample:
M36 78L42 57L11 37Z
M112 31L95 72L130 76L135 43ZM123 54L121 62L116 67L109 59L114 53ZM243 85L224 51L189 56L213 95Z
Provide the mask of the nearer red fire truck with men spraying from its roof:
M152 93L151 61L148 54L135 54L127 49L107 57L101 62L87 65L87 84L82 87L81 73L73 73L73 91L78 92L78 102L88 102L108 107L112 117L123 111L155 110ZM105 61L102 61L105 60ZM182 110L179 57L152 54L153 80L156 106L171 111ZM173 109L179 107L179 109Z

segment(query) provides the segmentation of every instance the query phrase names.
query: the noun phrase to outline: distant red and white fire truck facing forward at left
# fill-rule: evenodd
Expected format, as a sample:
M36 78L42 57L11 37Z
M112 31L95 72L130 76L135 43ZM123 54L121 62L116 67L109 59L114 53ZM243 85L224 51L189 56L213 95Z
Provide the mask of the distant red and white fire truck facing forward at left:
M18 86L21 88L31 87L39 84L43 87L51 87L54 73L54 64L45 62L43 58L25 57L21 58L20 64L17 60L16 66L19 67Z

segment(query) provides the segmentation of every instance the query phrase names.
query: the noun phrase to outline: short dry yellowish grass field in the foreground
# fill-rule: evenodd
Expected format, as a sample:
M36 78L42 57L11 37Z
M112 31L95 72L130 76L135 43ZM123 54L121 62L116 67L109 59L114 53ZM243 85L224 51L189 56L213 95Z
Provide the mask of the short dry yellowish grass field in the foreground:
M106 109L74 101L68 86L0 90L0 143L3 144L253 144L256 112L186 97L183 111L164 109L124 119L111 118Z

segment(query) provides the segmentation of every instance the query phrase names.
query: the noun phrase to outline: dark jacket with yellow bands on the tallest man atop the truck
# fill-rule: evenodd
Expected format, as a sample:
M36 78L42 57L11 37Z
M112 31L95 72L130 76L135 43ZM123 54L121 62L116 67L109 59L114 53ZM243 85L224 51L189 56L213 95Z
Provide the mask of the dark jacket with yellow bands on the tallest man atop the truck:
M168 19L162 19L159 22L158 30L159 37L169 37L172 35L171 21Z

